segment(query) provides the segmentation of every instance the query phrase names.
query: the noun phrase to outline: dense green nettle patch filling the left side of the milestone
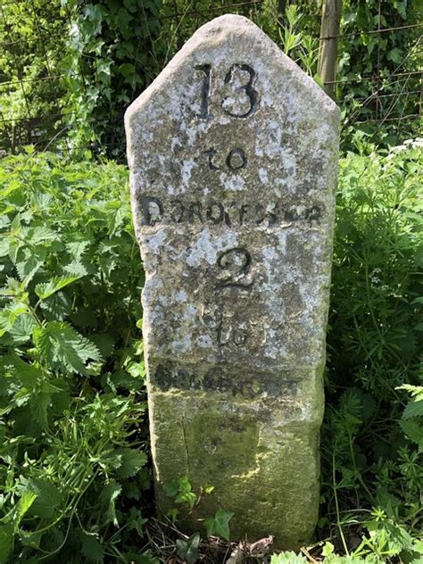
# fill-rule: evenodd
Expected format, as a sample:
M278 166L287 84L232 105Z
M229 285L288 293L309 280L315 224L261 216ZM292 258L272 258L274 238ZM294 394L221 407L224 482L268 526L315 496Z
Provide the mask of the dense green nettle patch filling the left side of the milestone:
M0 562L129 561L149 470L127 172L2 165Z

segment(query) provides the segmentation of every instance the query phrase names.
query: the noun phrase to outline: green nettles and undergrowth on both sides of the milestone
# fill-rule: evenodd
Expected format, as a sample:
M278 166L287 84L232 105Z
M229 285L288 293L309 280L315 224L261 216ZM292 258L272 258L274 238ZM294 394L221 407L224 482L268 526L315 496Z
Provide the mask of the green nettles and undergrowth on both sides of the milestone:
M421 157L366 151L340 168L317 540L271 564L423 558ZM127 182L112 162L0 164L0 564L159 561Z

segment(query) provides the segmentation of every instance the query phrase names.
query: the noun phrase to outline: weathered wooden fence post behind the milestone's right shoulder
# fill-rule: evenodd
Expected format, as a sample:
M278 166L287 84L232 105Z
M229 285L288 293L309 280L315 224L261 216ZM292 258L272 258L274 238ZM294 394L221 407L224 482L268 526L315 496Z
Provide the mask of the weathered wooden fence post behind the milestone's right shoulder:
M335 90L333 81L336 79L337 36L339 36L341 13L342 0L324 0L320 26L318 74L324 84L325 92L331 97L334 96Z

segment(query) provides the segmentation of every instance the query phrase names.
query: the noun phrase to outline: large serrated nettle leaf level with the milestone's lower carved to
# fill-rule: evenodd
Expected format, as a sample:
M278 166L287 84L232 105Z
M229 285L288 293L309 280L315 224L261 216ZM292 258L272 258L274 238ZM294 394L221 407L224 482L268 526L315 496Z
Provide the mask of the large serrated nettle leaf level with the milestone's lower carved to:
M55 369L87 375L87 361L102 358L95 344L66 321L50 321L34 328L34 341L42 358Z

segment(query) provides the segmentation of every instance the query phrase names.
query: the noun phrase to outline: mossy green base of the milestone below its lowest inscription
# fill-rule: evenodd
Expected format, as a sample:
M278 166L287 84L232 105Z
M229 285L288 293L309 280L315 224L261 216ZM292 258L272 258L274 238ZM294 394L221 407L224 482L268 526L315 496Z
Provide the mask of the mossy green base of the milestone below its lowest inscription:
M313 378L314 379L314 378ZM152 447L158 507L175 507L163 486L187 476L204 495L185 530L205 534L199 519L216 509L233 511L231 540L298 549L310 541L319 510L319 386L306 413L283 398L245 400L195 391L150 392ZM311 394L314 389L318 393ZM300 404L298 404L300 405ZM302 404L304 407L304 403ZM298 417L302 414L300 417Z

